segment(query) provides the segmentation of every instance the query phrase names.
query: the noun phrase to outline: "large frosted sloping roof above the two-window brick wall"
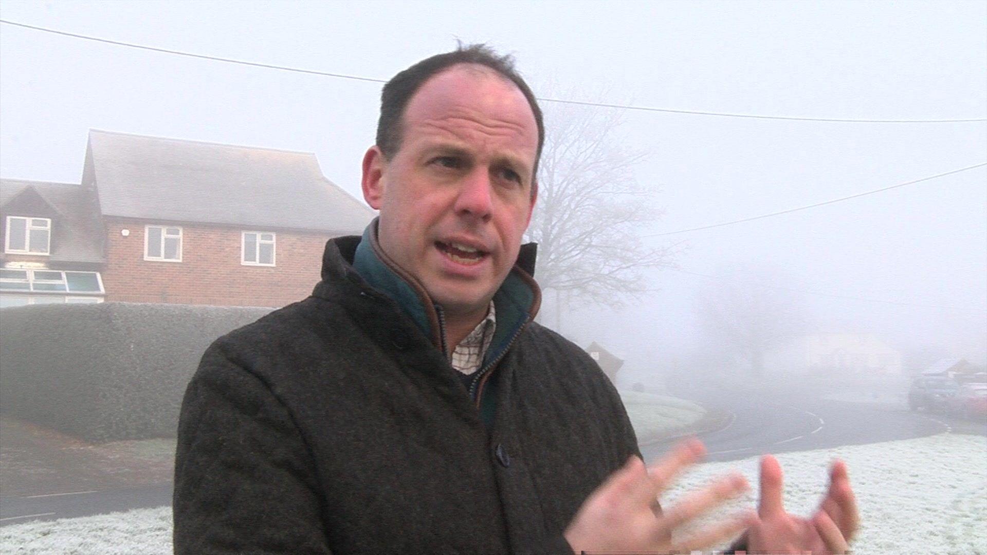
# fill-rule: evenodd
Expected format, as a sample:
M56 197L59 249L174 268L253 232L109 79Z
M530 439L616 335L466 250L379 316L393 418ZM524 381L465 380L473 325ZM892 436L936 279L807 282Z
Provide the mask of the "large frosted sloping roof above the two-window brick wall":
M86 165L106 216L339 235L362 233L374 216L309 152L93 129Z

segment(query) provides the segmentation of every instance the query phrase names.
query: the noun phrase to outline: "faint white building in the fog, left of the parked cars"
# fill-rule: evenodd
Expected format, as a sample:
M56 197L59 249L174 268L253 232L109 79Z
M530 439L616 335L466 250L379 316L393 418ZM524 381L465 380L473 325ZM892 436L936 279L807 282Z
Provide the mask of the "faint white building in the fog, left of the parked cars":
M901 354L873 334L807 335L765 355L765 368L777 373L901 373Z

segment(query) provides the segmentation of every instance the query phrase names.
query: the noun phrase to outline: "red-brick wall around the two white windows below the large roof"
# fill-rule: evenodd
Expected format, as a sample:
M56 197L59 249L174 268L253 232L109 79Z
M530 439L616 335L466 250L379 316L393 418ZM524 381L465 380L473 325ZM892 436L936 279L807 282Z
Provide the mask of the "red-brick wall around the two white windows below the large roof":
M276 231L277 266L244 266L245 229L182 224L182 262L160 262L144 260L144 226L163 223L109 217L106 223L108 301L284 306L311 294L330 237Z

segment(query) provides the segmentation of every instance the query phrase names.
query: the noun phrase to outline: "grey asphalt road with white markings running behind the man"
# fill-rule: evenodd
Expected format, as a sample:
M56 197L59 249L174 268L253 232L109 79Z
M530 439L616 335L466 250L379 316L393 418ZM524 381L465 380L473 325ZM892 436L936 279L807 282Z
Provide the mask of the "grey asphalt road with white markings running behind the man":
M987 436L987 422L913 413L903 402L849 402L797 393L759 396L686 392L680 396L728 411L729 417L720 430L700 435L709 451L707 460L711 461L944 432ZM670 445L670 441L645 445L645 460L656 459ZM162 507L171 504L171 492L171 483L162 483L54 496L0 496L0 525Z

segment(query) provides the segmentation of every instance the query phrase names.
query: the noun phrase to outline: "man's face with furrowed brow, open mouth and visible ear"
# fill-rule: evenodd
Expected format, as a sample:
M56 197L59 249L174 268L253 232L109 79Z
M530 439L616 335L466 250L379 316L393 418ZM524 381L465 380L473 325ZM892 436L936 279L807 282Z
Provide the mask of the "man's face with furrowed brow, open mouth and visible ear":
M538 128L517 87L476 65L431 77L387 161L363 159L384 252L450 315L486 312L531 219Z

